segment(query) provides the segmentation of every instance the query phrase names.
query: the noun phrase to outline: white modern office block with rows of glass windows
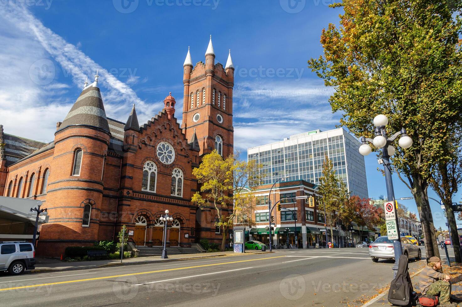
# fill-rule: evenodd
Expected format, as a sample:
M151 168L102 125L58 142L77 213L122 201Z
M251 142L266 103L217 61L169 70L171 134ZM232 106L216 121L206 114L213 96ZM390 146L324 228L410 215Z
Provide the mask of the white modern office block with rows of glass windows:
M359 145L359 141L343 128L314 130L248 148L247 156L249 161L258 160L263 165L263 184L274 183L281 177L319 184L327 155L351 195L368 198L364 157L358 151Z

